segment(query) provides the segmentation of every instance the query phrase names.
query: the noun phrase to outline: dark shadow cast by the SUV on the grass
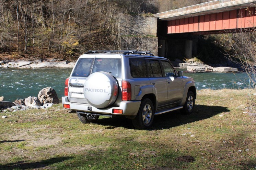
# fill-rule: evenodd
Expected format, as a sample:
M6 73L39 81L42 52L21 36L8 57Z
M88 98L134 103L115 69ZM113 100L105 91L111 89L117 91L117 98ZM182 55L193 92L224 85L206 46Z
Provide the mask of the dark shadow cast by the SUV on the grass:
M168 112L154 116L153 126L145 130L168 129L188 123L201 121L222 112L229 112L229 109L221 106L195 105L192 114L184 115L179 111ZM134 129L131 120L125 117L101 118L97 124L110 127L124 127Z

